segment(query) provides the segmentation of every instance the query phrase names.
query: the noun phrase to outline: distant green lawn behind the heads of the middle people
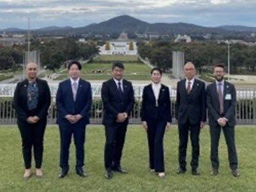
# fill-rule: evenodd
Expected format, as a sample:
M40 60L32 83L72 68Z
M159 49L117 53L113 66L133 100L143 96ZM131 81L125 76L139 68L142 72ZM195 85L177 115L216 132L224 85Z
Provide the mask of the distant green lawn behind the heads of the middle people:
M103 72L95 73L97 70ZM124 62L124 78L128 80L150 80L150 70L151 68L146 64ZM86 63L83 64L81 76L88 80L106 80L112 77L111 72L111 63ZM55 80L63 80L66 77L68 77L67 72L61 72Z

